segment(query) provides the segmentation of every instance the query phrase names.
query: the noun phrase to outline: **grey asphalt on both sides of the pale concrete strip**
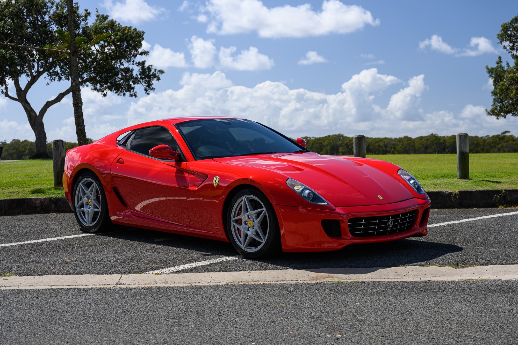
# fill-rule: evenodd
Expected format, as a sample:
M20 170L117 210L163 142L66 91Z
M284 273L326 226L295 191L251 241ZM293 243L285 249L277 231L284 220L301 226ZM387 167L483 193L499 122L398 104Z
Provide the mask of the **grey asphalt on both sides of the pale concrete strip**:
M516 210L432 210L429 224ZM0 247L0 273L510 265L518 263L516 233L513 214L336 252L203 264L236 253L229 243L119 228ZM0 217L0 245L81 234L73 214ZM516 296L516 280L4 290L0 343L517 343Z

